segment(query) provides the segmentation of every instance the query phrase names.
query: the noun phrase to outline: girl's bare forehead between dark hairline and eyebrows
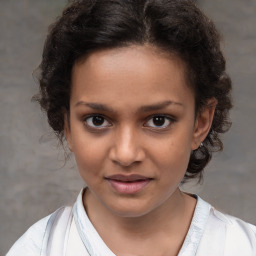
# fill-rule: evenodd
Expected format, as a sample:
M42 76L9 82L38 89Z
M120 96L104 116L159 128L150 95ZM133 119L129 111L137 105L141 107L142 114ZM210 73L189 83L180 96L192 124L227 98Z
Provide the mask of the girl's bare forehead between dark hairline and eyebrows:
M153 99L181 101L182 96L193 94L190 88L180 58L152 46L129 46L97 51L77 62L71 98L109 102L122 99L125 103L136 96L138 101L149 103Z

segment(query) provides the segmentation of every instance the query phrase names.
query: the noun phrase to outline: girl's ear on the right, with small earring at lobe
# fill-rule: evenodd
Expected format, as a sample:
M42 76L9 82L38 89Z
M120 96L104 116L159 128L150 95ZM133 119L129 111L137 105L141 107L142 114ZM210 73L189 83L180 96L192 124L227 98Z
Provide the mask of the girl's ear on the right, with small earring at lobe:
M194 126L192 150L197 149L209 133L217 104L218 101L211 98L207 101L207 105L199 110Z

